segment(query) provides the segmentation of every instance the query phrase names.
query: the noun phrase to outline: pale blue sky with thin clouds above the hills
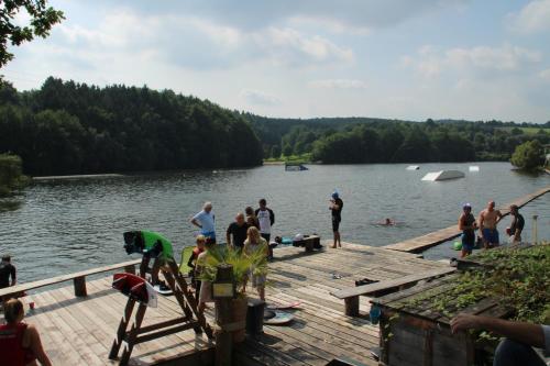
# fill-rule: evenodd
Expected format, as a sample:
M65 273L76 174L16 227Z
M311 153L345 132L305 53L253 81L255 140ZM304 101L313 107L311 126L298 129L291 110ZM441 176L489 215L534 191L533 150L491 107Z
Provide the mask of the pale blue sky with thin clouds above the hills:
M0 70L18 89L55 76L267 117L550 121L550 0L50 4L66 20Z

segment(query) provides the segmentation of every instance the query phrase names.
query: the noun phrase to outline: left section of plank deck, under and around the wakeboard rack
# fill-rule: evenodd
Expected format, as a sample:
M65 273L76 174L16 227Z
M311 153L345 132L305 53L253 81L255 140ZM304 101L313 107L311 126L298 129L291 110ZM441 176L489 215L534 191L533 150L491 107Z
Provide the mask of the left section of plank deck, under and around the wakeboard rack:
M35 310L25 321L36 324L53 365L118 364L109 361L108 354L127 298L111 289L111 277L91 280L87 288L86 298L75 298L72 287L31 295ZM173 302L162 298L158 308L147 309L143 324L177 315ZM196 336L193 331L176 333L135 346L131 365L152 365L212 346L206 336Z

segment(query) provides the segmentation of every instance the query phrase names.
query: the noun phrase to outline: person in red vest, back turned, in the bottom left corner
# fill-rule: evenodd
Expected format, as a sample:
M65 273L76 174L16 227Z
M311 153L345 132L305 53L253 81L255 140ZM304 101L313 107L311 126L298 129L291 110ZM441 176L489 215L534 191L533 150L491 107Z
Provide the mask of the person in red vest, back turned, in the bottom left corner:
M33 366L36 359L43 366L52 366L42 347L36 328L23 322L23 303L11 299L6 302L6 324L0 325L0 365Z

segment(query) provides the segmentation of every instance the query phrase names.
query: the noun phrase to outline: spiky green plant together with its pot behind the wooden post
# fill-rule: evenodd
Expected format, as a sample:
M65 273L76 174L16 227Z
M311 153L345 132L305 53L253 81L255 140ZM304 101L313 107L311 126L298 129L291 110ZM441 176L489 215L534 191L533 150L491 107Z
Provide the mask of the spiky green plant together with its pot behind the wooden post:
M235 297L231 304L231 323L237 329L232 331L233 342L244 341L245 320L248 310L246 284L251 274L266 275L267 258L265 254L257 251L252 254L244 254L240 248L217 245L209 249L205 262L205 268L200 275L200 280L213 282L217 277L219 265L231 265ZM216 312L218 321L218 312Z

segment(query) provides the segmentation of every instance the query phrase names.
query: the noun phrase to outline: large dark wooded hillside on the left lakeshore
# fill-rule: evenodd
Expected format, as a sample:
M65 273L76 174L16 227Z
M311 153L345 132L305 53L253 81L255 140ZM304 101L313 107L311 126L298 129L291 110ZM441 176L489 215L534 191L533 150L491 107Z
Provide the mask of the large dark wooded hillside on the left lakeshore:
M38 90L0 84L0 153L30 175L255 166L250 124L206 100L120 85L47 78Z

